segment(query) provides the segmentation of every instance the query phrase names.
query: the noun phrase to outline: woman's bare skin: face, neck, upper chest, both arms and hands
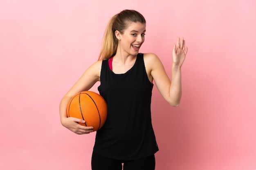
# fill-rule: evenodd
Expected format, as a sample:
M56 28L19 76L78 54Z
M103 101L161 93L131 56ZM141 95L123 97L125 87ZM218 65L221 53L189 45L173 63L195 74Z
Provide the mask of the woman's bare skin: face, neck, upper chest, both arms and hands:
M146 24L141 24L139 22L129 23L123 34L119 31L115 31L115 36L119 40L117 53L112 62L112 71L115 74L125 73L132 68L136 61L137 54L139 53L139 48L145 41L145 32ZM180 104L182 95L181 67L187 52L188 47L185 46L185 40L178 37L177 43L173 45L171 80L168 78L164 66L156 54L144 54L144 63L149 81L153 83L154 80L160 94L174 107L177 107ZM84 120L67 118L67 104L75 94L82 91L88 91L97 81L100 81L101 64L102 61L97 61L92 64L61 100L61 124L76 134L88 134L92 132L93 127L78 124L78 122L84 123Z

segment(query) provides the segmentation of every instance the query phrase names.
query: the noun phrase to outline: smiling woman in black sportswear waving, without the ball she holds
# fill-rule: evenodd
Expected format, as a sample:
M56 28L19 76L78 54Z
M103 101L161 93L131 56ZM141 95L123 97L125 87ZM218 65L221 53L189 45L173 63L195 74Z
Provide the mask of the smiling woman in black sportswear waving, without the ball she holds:
M182 94L181 67L188 48L183 38L173 46L172 79L159 58L141 54L146 20L137 11L124 10L110 20L99 61L92 64L65 94L60 104L61 124L76 134L88 134L92 127L83 120L67 118L66 107L78 92L88 91L97 81L99 94L108 104L108 117L97 131L92 153L92 170L154 170L158 151L151 123L153 80L164 99L177 107Z

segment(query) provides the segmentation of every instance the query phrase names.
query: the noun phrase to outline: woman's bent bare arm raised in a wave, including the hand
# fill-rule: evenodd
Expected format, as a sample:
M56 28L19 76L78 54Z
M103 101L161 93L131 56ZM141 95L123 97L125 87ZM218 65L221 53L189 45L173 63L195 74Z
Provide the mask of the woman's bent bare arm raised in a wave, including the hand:
M154 61L150 62L151 72L157 89L162 94L164 99L172 106L177 107L180 104L182 95L181 85L181 67L186 58L188 47L185 46L183 38L177 39L177 44L173 46L173 65L172 65L172 78L168 78L162 62L158 57L153 57Z

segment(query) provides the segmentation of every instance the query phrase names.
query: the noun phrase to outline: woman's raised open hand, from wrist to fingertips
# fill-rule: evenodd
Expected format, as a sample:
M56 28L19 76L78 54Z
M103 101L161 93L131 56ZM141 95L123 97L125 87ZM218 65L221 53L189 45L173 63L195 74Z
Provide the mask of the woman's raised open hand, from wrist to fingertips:
M183 37L177 39L177 45L173 46L173 64L181 67L188 52L188 47L185 46L185 40Z

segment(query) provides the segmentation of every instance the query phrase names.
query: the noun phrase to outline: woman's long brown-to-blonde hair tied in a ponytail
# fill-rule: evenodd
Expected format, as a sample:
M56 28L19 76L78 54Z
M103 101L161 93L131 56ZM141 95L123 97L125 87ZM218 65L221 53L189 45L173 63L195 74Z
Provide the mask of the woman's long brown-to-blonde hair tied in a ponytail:
M117 52L118 39L115 36L115 31L119 31L123 34L130 22L146 24L146 20L141 13L128 9L121 11L110 19L103 37L98 60L109 59Z

